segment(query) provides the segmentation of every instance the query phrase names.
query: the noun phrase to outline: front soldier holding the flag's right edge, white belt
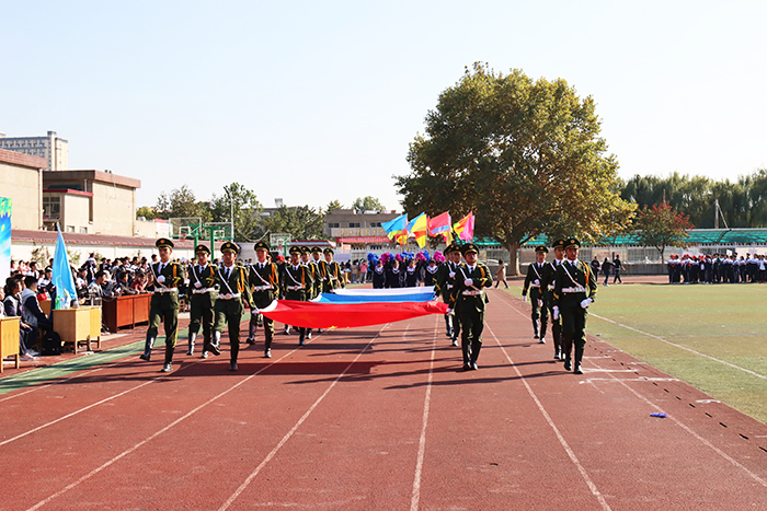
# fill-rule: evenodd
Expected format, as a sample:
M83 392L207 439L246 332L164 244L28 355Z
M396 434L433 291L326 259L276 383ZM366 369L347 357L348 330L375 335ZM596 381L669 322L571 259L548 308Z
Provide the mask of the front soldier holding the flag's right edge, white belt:
M484 329L484 305L488 297L484 288L493 284L490 269L478 263L479 249L473 243L461 247L466 263L456 269L456 311L463 328L461 348L463 350L463 370L477 370L477 359L482 348Z

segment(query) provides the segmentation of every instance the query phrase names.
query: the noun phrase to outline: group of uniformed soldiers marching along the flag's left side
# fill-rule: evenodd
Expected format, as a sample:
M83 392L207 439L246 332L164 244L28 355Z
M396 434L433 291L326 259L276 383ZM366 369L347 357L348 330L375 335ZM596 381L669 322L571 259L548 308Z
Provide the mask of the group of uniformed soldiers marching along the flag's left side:
M179 291L186 279L181 264L171 260L173 242L160 239L156 246L160 260L149 266L153 276L152 299L149 310L149 328L144 353L140 358L151 359L151 350L163 324L165 352L162 372L173 370L173 351L179 329ZM245 306L251 310L248 344L255 344L259 326L264 328L264 357L272 357L274 322L259 314L275 299L307 301L321 292L331 292L344 287L341 267L333 260L333 249L319 247L290 248L288 262L273 263L270 246L265 242L255 244L256 262L243 265L239 262L240 247L236 243L221 245L221 264L210 262L210 249L205 245L195 247L196 262L188 267L186 299L190 303L188 349L192 356L202 327L202 358L209 353L221 355L221 337L225 329L229 336L229 370L237 371L240 350L240 322ZM311 257L310 257L311 255ZM324 256L324 258L322 258ZM289 332L286 326L286 332ZM297 328L299 345L311 338L311 329Z

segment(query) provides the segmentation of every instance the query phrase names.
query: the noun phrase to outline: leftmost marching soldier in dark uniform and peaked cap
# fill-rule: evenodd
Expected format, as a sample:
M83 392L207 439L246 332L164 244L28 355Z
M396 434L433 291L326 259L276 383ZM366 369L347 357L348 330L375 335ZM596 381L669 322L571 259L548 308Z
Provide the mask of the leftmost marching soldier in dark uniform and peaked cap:
M167 373L173 370L173 349L179 335L179 284L185 279L181 265L171 260L173 242L161 237L154 246L160 254L160 260L150 266L154 276L154 291L149 305L147 340L140 358L149 360L151 357L152 346L162 321L165 327L165 362L162 365L162 372Z

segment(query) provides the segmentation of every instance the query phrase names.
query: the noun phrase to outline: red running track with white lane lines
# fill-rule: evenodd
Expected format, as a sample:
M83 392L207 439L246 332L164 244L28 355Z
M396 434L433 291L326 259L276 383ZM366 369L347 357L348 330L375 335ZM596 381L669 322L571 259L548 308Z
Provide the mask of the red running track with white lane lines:
M426 316L1 396L0 509L767 509L767 426L490 298L479 371Z

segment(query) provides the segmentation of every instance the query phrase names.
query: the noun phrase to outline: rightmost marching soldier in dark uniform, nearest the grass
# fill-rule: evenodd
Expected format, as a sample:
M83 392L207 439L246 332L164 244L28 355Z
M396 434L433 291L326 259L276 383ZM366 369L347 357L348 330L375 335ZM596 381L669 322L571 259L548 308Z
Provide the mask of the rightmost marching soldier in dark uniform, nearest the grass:
M557 267L554 274L553 313L562 316L562 345L564 370L572 368L570 355L575 345L575 374L583 374L581 361L586 347L587 307L596 295L596 276L591 267L577 259L580 242L571 237L565 243L566 260Z

